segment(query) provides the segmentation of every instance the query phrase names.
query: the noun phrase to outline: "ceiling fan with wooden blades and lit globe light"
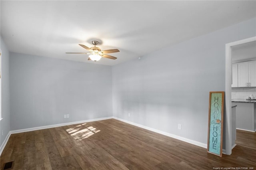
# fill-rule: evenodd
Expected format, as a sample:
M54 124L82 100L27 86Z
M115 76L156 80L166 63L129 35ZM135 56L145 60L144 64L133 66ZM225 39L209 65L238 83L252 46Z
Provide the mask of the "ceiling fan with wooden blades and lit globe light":
M99 47L96 47L96 45L98 44L98 41L92 41L92 44L94 45L94 47L90 47L90 48L86 47L85 45L79 44L81 47L90 51L90 53L68 53L68 54L89 54L88 60L92 60L92 61L99 61L101 57L105 57L109 59L117 59L114 56L107 55L107 53L119 52L118 49L107 49L107 50L101 51Z

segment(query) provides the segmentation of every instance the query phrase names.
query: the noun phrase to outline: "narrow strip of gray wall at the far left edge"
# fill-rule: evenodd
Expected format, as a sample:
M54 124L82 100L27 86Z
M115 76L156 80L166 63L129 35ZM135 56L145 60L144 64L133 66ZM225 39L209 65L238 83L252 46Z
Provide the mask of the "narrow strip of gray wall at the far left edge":
M0 121L0 146L10 131L10 81L9 81L9 50L1 39L2 50L2 120ZM2 136L2 130L4 135Z

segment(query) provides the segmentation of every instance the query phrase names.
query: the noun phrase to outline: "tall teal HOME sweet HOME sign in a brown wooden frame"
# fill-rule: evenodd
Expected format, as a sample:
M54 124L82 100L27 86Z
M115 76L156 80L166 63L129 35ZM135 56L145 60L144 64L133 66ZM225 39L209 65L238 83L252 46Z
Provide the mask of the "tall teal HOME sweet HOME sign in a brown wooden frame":
M224 91L210 91L207 152L222 157Z

